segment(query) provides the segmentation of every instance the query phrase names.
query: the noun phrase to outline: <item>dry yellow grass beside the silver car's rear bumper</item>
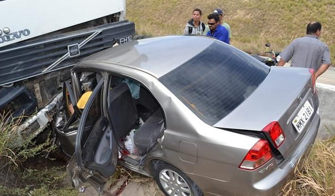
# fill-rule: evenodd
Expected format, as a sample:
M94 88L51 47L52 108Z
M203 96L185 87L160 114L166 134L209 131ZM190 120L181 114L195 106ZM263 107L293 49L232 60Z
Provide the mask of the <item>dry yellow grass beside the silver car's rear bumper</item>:
M283 188L284 195L335 195L335 137L317 141L309 157L296 168L294 178Z

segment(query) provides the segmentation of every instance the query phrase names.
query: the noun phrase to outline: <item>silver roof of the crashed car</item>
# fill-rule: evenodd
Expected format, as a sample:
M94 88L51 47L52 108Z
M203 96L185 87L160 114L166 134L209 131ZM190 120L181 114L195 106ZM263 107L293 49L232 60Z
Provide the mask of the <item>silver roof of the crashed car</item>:
M214 41L217 40L201 35L170 35L134 40L86 57L75 68L97 68L102 64L106 69L106 63L117 64L134 67L159 78L201 53Z

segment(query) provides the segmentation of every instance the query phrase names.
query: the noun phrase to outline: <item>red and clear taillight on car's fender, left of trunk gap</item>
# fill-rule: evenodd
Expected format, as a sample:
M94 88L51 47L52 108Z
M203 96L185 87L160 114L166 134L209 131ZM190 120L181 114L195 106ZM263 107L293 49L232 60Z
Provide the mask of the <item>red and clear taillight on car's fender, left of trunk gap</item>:
M260 139L250 149L239 168L245 170L254 170L264 165L271 158L272 154L268 141L265 139Z

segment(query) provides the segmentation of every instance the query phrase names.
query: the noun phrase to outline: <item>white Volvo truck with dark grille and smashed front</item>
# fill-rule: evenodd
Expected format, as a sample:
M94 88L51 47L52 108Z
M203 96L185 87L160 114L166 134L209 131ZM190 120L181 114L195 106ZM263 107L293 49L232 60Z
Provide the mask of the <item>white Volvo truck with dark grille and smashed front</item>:
M71 67L133 39L125 0L0 0L0 112L31 115L22 138L53 120Z

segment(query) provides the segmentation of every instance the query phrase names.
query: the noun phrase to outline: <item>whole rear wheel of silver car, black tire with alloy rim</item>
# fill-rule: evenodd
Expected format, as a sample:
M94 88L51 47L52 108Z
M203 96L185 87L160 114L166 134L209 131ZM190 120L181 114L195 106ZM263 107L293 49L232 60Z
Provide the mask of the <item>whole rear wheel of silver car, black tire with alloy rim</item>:
M157 161L151 171L166 196L203 196L200 188L189 177L170 164Z

